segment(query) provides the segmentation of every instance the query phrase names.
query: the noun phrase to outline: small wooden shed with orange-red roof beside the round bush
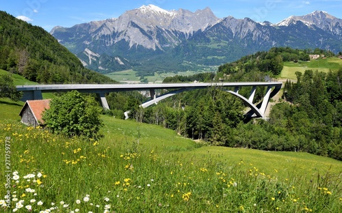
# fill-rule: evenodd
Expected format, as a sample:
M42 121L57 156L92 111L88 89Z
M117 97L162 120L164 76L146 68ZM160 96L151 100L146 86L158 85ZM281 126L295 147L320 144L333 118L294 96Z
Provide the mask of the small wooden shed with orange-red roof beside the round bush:
M38 126L44 124L42 112L50 108L50 99L46 100L27 100L21 109L21 122L28 126Z

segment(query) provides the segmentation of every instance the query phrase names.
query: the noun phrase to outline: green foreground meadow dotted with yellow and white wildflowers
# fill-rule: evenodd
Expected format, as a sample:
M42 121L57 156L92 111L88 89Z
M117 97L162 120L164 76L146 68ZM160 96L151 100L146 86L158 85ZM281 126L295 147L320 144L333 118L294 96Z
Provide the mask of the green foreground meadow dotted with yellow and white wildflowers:
M21 124L22 104L0 100L1 212L342 208L342 162L332 158L209 146L107 115L100 141L69 139Z

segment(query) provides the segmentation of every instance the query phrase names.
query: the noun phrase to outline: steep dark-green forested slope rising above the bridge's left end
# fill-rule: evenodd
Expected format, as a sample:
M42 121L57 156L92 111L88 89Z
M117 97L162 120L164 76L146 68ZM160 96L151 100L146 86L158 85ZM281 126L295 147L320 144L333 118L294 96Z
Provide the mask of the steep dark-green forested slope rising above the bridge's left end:
M0 68L38 83L113 83L81 61L41 27L0 11Z

